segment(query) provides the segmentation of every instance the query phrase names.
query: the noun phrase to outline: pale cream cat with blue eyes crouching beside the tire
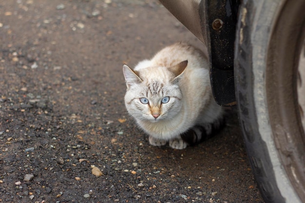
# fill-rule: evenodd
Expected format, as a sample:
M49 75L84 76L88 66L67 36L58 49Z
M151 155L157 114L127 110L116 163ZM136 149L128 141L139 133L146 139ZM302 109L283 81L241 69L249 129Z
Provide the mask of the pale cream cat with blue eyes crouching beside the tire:
M183 149L220 129L224 109L214 101L209 66L203 52L182 42L134 69L123 65L126 109L151 145Z

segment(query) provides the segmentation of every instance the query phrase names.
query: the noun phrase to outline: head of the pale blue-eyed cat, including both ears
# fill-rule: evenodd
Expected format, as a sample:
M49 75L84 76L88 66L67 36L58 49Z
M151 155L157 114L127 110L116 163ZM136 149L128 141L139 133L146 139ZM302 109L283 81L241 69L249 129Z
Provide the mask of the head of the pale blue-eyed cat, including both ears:
M148 67L138 71L124 65L127 111L143 121L173 118L181 110L182 94L178 81L187 64L186 60L172 67Z

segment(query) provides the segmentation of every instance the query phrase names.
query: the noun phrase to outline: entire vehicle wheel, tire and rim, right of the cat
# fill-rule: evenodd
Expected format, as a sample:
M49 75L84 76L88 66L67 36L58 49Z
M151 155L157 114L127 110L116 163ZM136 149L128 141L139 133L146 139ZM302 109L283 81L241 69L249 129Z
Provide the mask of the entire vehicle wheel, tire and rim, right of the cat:
M305 0L243 0L237 108L266 203L305 203Z

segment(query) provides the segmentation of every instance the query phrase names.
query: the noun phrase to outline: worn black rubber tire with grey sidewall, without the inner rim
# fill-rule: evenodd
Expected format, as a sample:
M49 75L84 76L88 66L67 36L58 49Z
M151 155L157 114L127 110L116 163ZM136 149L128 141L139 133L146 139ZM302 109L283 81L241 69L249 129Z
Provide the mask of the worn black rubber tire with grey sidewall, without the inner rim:
M266 203L302 203L281 165L266 100L268 44L286 0L244 0L235 41L235 91L245 145Z

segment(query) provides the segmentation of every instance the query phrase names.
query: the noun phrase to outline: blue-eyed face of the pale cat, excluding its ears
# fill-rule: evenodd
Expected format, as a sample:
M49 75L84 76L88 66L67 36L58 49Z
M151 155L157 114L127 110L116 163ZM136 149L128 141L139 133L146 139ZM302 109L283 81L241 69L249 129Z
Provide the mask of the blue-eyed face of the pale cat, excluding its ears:
M181 109L181 99L177 85L161 81L143 81L125 94L127 111L136 119L153 122L175 116Z

